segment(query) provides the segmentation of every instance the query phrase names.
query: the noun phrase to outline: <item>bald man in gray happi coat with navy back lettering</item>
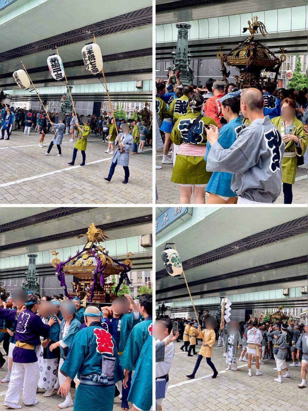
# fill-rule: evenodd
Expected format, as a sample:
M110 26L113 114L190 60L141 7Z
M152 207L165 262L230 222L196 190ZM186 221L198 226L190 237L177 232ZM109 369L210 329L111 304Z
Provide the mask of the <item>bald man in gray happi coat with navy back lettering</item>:
M241 113L251 124L230 148L218 143L218 128L207 130L211 150L207 171L233 173L231 189L238 204L274 203L281 191L281 161L285 143L279 130L263 115L263 95L256 88L241 93Z

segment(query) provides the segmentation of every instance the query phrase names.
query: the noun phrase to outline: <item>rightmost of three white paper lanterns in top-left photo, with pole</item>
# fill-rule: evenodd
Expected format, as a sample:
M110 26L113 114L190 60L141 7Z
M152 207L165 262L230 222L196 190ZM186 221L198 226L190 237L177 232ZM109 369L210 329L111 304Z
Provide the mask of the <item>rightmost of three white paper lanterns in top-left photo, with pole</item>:
M83 62L84 62L85 68L87 69L88 72L90 72L92 74L98 74L101 71L102 74L103 74L103 79L104 79L105 89L106 89L107 97L108 97L108 101L109 101L110 111L111 111L111 114L112 114L112 117L113 117L113 121L115 123L115 131L117 132L117 141L120 142L119 131L117 129L117 122L115 121L115 115L113 113L113 108L112 108L112 105L111 105L109 90L108 90L108 87L107 87L105 74L104 74L104 70L103 70L103 57L101 55L101 49L99 48L99 45L97 44L94 35L93 35L93 39L94 39L94 44L96 46L94 47L93 43L86 44L83 47L82 51L81 51Z

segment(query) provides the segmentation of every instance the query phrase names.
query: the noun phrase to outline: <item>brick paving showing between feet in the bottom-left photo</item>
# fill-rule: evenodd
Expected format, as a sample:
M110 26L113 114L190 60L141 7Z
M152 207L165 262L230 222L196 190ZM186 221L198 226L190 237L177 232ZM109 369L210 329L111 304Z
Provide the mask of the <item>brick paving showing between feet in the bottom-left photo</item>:
M2 353L4 351L2 350ZM7 356L4 357L5 360L7 360ZM3 379L7 373L7 363L0 369L0 379ZM5 394L7 392L7 386L9 383L0 383L0 411L5 411L7 408L3 405L4 399L5 399ZM75 390L71 388L71 396L75 398ZM44 410L44 411L53 411L53 410L59 410L58 404L64 401L64 398L61 397L61 395L53 395L52 397L43 397L44 390L39 390L37 393L37 399L39 400L38 404L36 405L24 405L22 402L22 395L20 396L19 404L22 406L22 409L25 410L30 410L30 411L39 411L39 410ZM129 403L130 408L132 406L131 403ZM66 408L67 411L73 411L73 407L68 407ZM121 400L119 397L115 398L114 402L114 407L113 411L119 411L121 410ZM86 410L85 410L86 411ZM88 410L88 411L94 411L94 410ZM111 410L110 410L111 411Z

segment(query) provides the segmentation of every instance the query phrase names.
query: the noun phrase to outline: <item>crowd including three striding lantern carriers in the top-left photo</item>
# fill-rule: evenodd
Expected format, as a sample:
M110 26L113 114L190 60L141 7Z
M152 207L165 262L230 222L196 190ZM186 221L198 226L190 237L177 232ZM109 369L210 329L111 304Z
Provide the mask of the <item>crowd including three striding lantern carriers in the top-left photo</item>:
M77 115L77 117L76 117ZM54 145L57 146L57 157L62 156L61 145L64 135L70 135L68 140L75 142L73 156L70 166L75 165L78 151L81 152L82 162L80 166L85 166L87 138L90 133L102 136L102 141L108 143L104 152L113 156L110 171L105 180L111 181L115 167L123 166L124 180L127 184L129 180L129 154L144 153L144 146L147 142L152 147L152 127L147 127L144 121L124 120L119 118L114 124L113 118L97 117L95 115L81 116L78 113L70 115L62 112L46 113L44 110L25 110L19 107L3 106L0 113L1 139L9 140L12 130L21 129L23 134L30 135L31 130L39 135L39 148L44 148L44 138L46 134L52 135L48 149L44 155L50 155ZM119 137L117 137L117 130Z

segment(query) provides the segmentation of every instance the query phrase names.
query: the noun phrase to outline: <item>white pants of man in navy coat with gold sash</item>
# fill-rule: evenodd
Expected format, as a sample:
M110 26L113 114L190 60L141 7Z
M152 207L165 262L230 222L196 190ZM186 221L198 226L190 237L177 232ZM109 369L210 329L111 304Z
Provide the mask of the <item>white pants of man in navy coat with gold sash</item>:
M39 365L35 363L13 363L11 379L4 404L18 404L23 388L23 403L32 405L36 399L37 383L39 381Z

